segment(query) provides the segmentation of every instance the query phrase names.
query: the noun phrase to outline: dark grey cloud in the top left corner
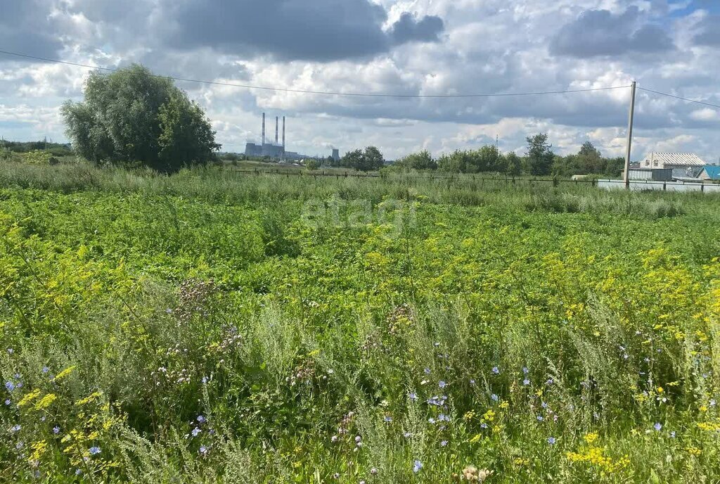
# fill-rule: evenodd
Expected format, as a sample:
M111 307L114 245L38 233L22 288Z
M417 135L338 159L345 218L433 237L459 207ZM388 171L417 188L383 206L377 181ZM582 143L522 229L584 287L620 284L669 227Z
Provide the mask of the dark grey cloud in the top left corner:
M10 52L54 57L62 43L56 37L49 6L35 0L2 0L0 6L0 48ZM22 60L0 55L0 62Z

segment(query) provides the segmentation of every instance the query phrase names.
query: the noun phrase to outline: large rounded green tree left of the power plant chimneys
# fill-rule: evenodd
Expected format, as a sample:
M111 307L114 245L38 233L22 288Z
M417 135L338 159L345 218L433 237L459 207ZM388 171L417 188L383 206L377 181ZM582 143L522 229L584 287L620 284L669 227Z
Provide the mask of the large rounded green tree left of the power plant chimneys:
M143 66L91 73L84 102L66 102L62 114L73 148L96 163L174 171L207 163L220 149L202 109Z

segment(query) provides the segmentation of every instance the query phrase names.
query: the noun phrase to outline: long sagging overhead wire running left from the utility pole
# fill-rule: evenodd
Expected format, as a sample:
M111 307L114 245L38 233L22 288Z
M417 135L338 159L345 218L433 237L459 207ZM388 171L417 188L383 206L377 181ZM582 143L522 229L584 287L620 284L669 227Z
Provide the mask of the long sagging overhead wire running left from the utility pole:
M88 69L97 69L99 71L117 72L120 71L118 68L109 68L102 66L89 66L87 64L81 64L76 62L68 62L67 60L50 59L44 57L37 57L35 55L27 55L15 52L8 52L6 50L0 50L1 54L14 55L17 57L42 60L44 62L52 62L58 64L65 64L67 66L76 66ZM543 96L546 94L573 94L577 92L590 92L590 91L610 91L613 89L626 89L630 86L610 86L610 87L595 87L588 89L566 89L563 91L538 91L538 92L508 92L499 94L375 94L375 93L359 93L359 92L339 92L339 91L311 91L307 89L287 89L282 87L269 87L269 86L255 86L252 84L233 84L229 82L220 81L202 81L199 79L186 79L182 77L174 76L161 76L159 74L148 74L148 76L158 77L162 79L173 79L174 81L183 82L194 82L197 84L210 84L212 86L230 86L239 87L243 89L257 89L261 91L277 91L277 92L289 92L295 94L319 94L323 96L346 96L346 97L384 97L384 98L413 98L413 99L451 99L451 98L483 98L483 97L516 97L516 96Z

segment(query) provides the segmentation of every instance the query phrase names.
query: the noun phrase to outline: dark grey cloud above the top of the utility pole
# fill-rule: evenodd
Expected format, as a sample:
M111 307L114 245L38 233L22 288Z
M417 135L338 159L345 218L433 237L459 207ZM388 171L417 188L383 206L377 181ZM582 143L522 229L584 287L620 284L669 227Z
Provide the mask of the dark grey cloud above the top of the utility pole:
M550 42L554 55L590 58L599 55L657 53L672 50L670 37L660 27L638 27L639 10L632 6L623 14L588 10L565 24Z

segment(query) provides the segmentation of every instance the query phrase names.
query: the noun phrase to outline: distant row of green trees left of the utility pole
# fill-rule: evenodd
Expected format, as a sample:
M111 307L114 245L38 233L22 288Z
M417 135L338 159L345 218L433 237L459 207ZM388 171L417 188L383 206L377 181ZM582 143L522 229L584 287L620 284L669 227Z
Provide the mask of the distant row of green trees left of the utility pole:
M553 153L546 133L526 138L524 156L514 152L501 153L495 145L477 150L456 150L433 158L428 151L404 156L393 163L400 171L444 171L447 173L498 173L510 176L619 176L624 169L623 158L606 158L590 141L577 154L559 156Z

